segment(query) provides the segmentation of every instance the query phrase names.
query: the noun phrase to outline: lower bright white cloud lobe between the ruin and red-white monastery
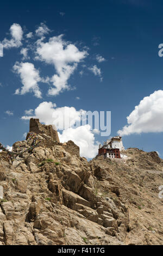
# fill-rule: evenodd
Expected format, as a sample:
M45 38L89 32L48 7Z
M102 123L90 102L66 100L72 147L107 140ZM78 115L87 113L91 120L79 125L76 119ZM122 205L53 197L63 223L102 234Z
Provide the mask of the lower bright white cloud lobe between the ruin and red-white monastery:
M79 126L76 129L66 129L59 133L60 142L73 141L80 148L80 156L93 158L98 154L99 142L95 141L95 136L91 131L90 125Z

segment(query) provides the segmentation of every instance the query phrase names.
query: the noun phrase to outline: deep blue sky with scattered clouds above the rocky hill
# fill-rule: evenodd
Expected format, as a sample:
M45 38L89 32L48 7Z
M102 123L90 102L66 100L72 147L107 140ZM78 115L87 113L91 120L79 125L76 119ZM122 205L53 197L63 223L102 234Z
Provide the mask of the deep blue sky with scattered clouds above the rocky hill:
M36 116L37 112L48 123L46 111L48 115L52 108L67 106L73 107L72 114L76 116L79 109L111 111L111 136L121 130L126 148L155 150L163 157L163 58L158 55L158 46L163 43L162 11L162 1L152 0L1 3L0 41L4 55L0 57L0 141L12 145L22 140L29 129L30 115ZM11 33L15 29L14 38ZM55 51L56 44L62 50L72 45L62 63L51 58L51 53L48 55L48 47L53 45ZM28 49L27 56L22 49ZM28 92L31 74L34 86ZM58 93L48 94L57 83ZM40 97L36 96L38 92ZM134 111L135 106L138 107ZM29 109L33 109L30 114ZM126 119L129 115L130 124ZM98 142L106 137L85 128L68 130L62 140L74 136L82 154L91 158Z

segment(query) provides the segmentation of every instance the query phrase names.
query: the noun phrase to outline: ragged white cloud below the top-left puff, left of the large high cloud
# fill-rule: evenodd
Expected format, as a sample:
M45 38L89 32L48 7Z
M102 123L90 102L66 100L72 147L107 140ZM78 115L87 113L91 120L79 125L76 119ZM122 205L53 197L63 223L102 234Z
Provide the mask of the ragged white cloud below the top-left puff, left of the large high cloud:
M39 70L35 69L34 64L29 62L16 62L13 69L15 72L17 72L18 75L20 75L23 84L21 90L16 89L15 94L23 95L29 92L33 92L36 97L41 98L41 91L37 84L41 81L41 77L39 75Z

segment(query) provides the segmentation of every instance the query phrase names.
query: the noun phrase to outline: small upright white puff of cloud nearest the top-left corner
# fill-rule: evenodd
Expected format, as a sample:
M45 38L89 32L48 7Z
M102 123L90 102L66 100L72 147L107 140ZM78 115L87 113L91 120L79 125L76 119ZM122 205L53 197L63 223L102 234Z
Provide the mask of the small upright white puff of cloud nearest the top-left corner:
M23 31L19 24L14 23L10 27L11 39L4 39L2 41L3 48L20 47L22 45Z

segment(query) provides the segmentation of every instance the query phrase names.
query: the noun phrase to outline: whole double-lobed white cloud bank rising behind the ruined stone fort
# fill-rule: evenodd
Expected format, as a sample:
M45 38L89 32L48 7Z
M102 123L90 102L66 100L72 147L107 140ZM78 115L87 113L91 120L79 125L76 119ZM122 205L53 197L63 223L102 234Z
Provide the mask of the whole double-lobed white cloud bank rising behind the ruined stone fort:
M42 123L46 125L54 124L59 127L58 117L60 124L64 124L64 130L59 132L59 138L61 142L67 142L68 140L74 141L80 147L80 155L88 158L95 157L98 152L98 142L95 141L95 136L91 131L90 125L83 125L76 127L76 123L80 122L81 112L85 113L82 109L77 111L74 107L56 107L55 103L52 102L42 102L35 109L34 115L24 115L23 120L29 120L30 118L39 118ZM66 118L70 118L68 123L70 126L66 126Z

